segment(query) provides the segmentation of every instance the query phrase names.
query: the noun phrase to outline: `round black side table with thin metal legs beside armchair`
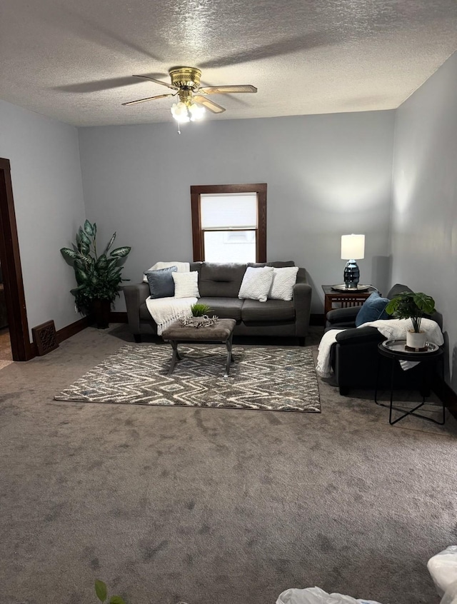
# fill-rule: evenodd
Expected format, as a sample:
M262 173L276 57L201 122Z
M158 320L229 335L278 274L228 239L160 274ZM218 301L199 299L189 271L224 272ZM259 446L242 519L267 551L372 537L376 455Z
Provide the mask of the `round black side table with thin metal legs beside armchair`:
M428 368L433 368L433 366L436 365L436 361L438 361L438 357L440 357L443 354L442 348L440 348L439 346L436 346L436 344L432 344L429 342L427 343L426 351L417 351L417 352L407 351L405 348L405 345L406 345L406 340L386 340L386 341L380 342L378 344L378 353L380 353L382 356L386 356L387 358L391 359L391 403L390 403L390 405L383 405L383 403L378 403L379 363L378 363L378 373L376 376L376 388L374 391L374 402L376 403L376 405L381 405L382 407L389 408L388 423L390 423L391 426L393 426L394 423L397 423L401 419L406 418L406 416L416 416L418 418L423 418L427 421L432 421L433 423L438 423L440 426L442 426L445 421L445 408L444 408L443 402L441 402L441 407L443 410L443 420L442 421L437 421L436 419L429 418L427 416L423 416L423 415L421 415L421 413L416 413L416 411L418 409L420 409L423 405L426 404L425 395L422 396L422 403L420 403L418 406L411 409L411 411L405 412L404 409L401 409L398 407L393 407L393 389L395 387L393 376L395 374L395 362L396 361L416 361L416 362L420 361L421 363L426 364L428 366ZM406 370L406 371L408 371L408 370ZM428 372L423 371L422 377L423 377L422 392L425 392L426 386L427 387L430 386L429 382L426 383L426 380L428 377ZM392 409L395 409L396 411L403 411L403 415L392 421Z

